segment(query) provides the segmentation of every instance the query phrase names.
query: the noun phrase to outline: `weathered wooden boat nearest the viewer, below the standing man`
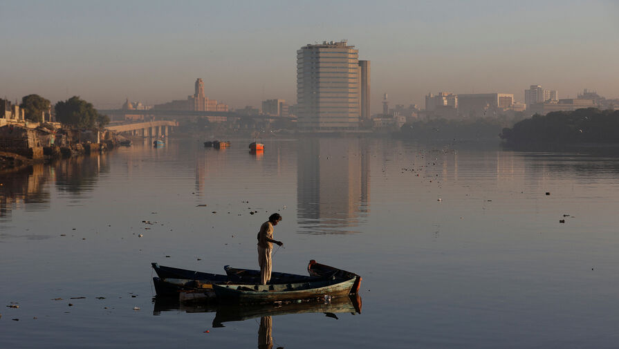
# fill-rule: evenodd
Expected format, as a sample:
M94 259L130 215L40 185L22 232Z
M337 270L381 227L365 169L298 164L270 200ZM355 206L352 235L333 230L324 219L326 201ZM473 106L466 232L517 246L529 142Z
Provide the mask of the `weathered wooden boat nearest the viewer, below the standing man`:
M303 283L251 284L213 284L213 291L221 301L239 303L273 303L297 299L315 299L323 296L347 296L356 278L349 280L322 279Z

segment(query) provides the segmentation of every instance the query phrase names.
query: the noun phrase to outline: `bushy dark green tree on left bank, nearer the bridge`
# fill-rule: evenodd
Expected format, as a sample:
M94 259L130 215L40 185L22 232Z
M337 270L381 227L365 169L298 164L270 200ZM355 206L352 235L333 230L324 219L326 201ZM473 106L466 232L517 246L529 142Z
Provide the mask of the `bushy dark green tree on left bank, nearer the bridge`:
M93 129L95 125L101 128L109 123L107 115L100 114L93 107L93 104L82 100L79 96L73 96L64 102L56 103L54 109L56 120L63 124Z

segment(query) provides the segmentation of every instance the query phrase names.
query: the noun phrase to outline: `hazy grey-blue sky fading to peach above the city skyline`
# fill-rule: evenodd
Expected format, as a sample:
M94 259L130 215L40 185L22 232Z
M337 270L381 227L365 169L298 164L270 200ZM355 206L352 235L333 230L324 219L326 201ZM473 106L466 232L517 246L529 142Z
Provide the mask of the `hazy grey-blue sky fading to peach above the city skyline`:
M428 92L542 84L619 97L619 1L0 0L0 97L185 99L196 77L233 108L296 101L296 50L348 39L371 61L372 110Z

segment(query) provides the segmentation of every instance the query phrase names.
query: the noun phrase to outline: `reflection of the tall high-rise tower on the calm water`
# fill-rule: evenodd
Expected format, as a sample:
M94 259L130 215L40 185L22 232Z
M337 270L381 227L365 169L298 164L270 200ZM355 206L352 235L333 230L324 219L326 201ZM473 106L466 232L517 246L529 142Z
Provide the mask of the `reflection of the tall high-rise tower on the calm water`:
M352 228L369 213L369 140L302 139L297 159L297 223L301 232L355 232Z

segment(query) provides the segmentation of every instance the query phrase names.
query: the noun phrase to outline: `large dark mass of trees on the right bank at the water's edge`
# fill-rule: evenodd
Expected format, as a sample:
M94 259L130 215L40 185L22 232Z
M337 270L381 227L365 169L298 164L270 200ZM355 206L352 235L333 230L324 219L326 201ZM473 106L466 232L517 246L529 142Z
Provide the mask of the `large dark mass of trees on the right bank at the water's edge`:
M536 114L503 129L501 138L517 145L619 143L619 111L587 108Z

